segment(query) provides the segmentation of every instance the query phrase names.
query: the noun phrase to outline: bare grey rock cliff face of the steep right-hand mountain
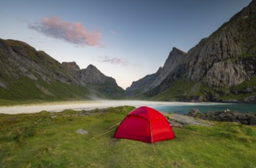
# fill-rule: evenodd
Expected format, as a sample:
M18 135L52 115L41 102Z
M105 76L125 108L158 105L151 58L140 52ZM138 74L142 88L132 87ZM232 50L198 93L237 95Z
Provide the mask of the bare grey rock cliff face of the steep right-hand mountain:
M244 8L210 37L205 39L205 41L200 43L196 50L189 50L188 55L192 60L188 62L187 79L200 81L206 77L204 79L205 84L218 87L220 79L224 84L227 83L228 86L235 86L244 82L245 79L251 78L251 74L245 73L241 61L235 61L235 59L255 56L255 8L256 2L253 1L247 8ZM229 72L237 69L238 74L232 73L231 75L227 69L229 69ZM216 70L218 72L212 73ZM223 71L226 72L226 75L224 75ZM217 74L218 76L216 76ZM208 82L209 78L212 78L214 81L212 83Z

